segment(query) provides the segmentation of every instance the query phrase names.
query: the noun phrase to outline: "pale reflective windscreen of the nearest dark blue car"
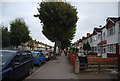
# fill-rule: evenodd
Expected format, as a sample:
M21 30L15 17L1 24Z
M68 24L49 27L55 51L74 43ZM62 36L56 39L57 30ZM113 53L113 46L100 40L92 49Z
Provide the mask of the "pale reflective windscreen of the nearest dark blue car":
M15 54L13 52L5 52L5 51L2 51L0 53L2 53L2 54L0 54L2 57L2 64L0 64L0 65L5 65L8 62L8 60L12 57L12 55Z

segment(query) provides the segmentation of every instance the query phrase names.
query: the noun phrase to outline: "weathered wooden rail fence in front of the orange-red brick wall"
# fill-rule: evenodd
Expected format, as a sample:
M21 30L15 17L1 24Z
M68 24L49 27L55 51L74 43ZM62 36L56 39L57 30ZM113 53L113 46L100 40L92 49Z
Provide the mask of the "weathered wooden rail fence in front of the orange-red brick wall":
M109 72L111 70L118 70L117 63L99 63L99 62L80 63L80 72L81 71Z

